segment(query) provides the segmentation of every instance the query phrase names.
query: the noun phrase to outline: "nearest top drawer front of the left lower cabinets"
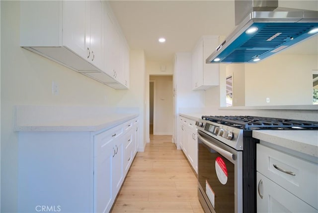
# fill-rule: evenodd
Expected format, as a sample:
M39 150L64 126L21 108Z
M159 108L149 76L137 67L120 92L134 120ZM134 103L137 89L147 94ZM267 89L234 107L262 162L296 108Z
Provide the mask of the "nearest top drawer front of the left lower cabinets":
M94 157L112 149L112 141L123 134L123 126L119 125L94 135ZM109 147L109 145L111 147Z

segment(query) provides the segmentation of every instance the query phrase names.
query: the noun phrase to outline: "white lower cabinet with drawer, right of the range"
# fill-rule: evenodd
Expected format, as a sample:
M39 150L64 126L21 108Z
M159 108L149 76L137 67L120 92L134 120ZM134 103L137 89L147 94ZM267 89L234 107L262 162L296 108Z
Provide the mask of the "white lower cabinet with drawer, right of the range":
M318 164L263 144L256 147L257 212L318 213Z

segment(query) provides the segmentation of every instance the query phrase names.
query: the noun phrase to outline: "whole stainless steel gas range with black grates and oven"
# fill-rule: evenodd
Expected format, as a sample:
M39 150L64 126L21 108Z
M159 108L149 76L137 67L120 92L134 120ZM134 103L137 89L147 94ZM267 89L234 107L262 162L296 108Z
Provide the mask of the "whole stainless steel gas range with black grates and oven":
M202 116L198 128L198 196L206 213L256 212L256 144L252 130L318 129L318 122L256 116Z

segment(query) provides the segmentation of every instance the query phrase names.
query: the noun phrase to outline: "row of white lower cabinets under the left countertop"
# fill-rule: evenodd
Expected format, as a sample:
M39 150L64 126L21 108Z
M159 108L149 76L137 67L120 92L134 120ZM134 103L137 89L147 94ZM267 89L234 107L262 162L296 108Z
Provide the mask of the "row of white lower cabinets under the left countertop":
M136 119L99 132L19 132L18 212L110 212L136 154Z

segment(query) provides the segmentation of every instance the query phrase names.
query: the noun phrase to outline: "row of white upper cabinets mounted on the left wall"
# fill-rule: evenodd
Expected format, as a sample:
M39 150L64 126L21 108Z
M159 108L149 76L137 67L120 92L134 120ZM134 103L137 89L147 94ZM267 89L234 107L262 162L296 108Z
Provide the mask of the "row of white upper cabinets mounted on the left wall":
M125 73L120 46L127 42L110 11L100 0L21 1L20 46L112 88L127 89L124 77L118 78Z

